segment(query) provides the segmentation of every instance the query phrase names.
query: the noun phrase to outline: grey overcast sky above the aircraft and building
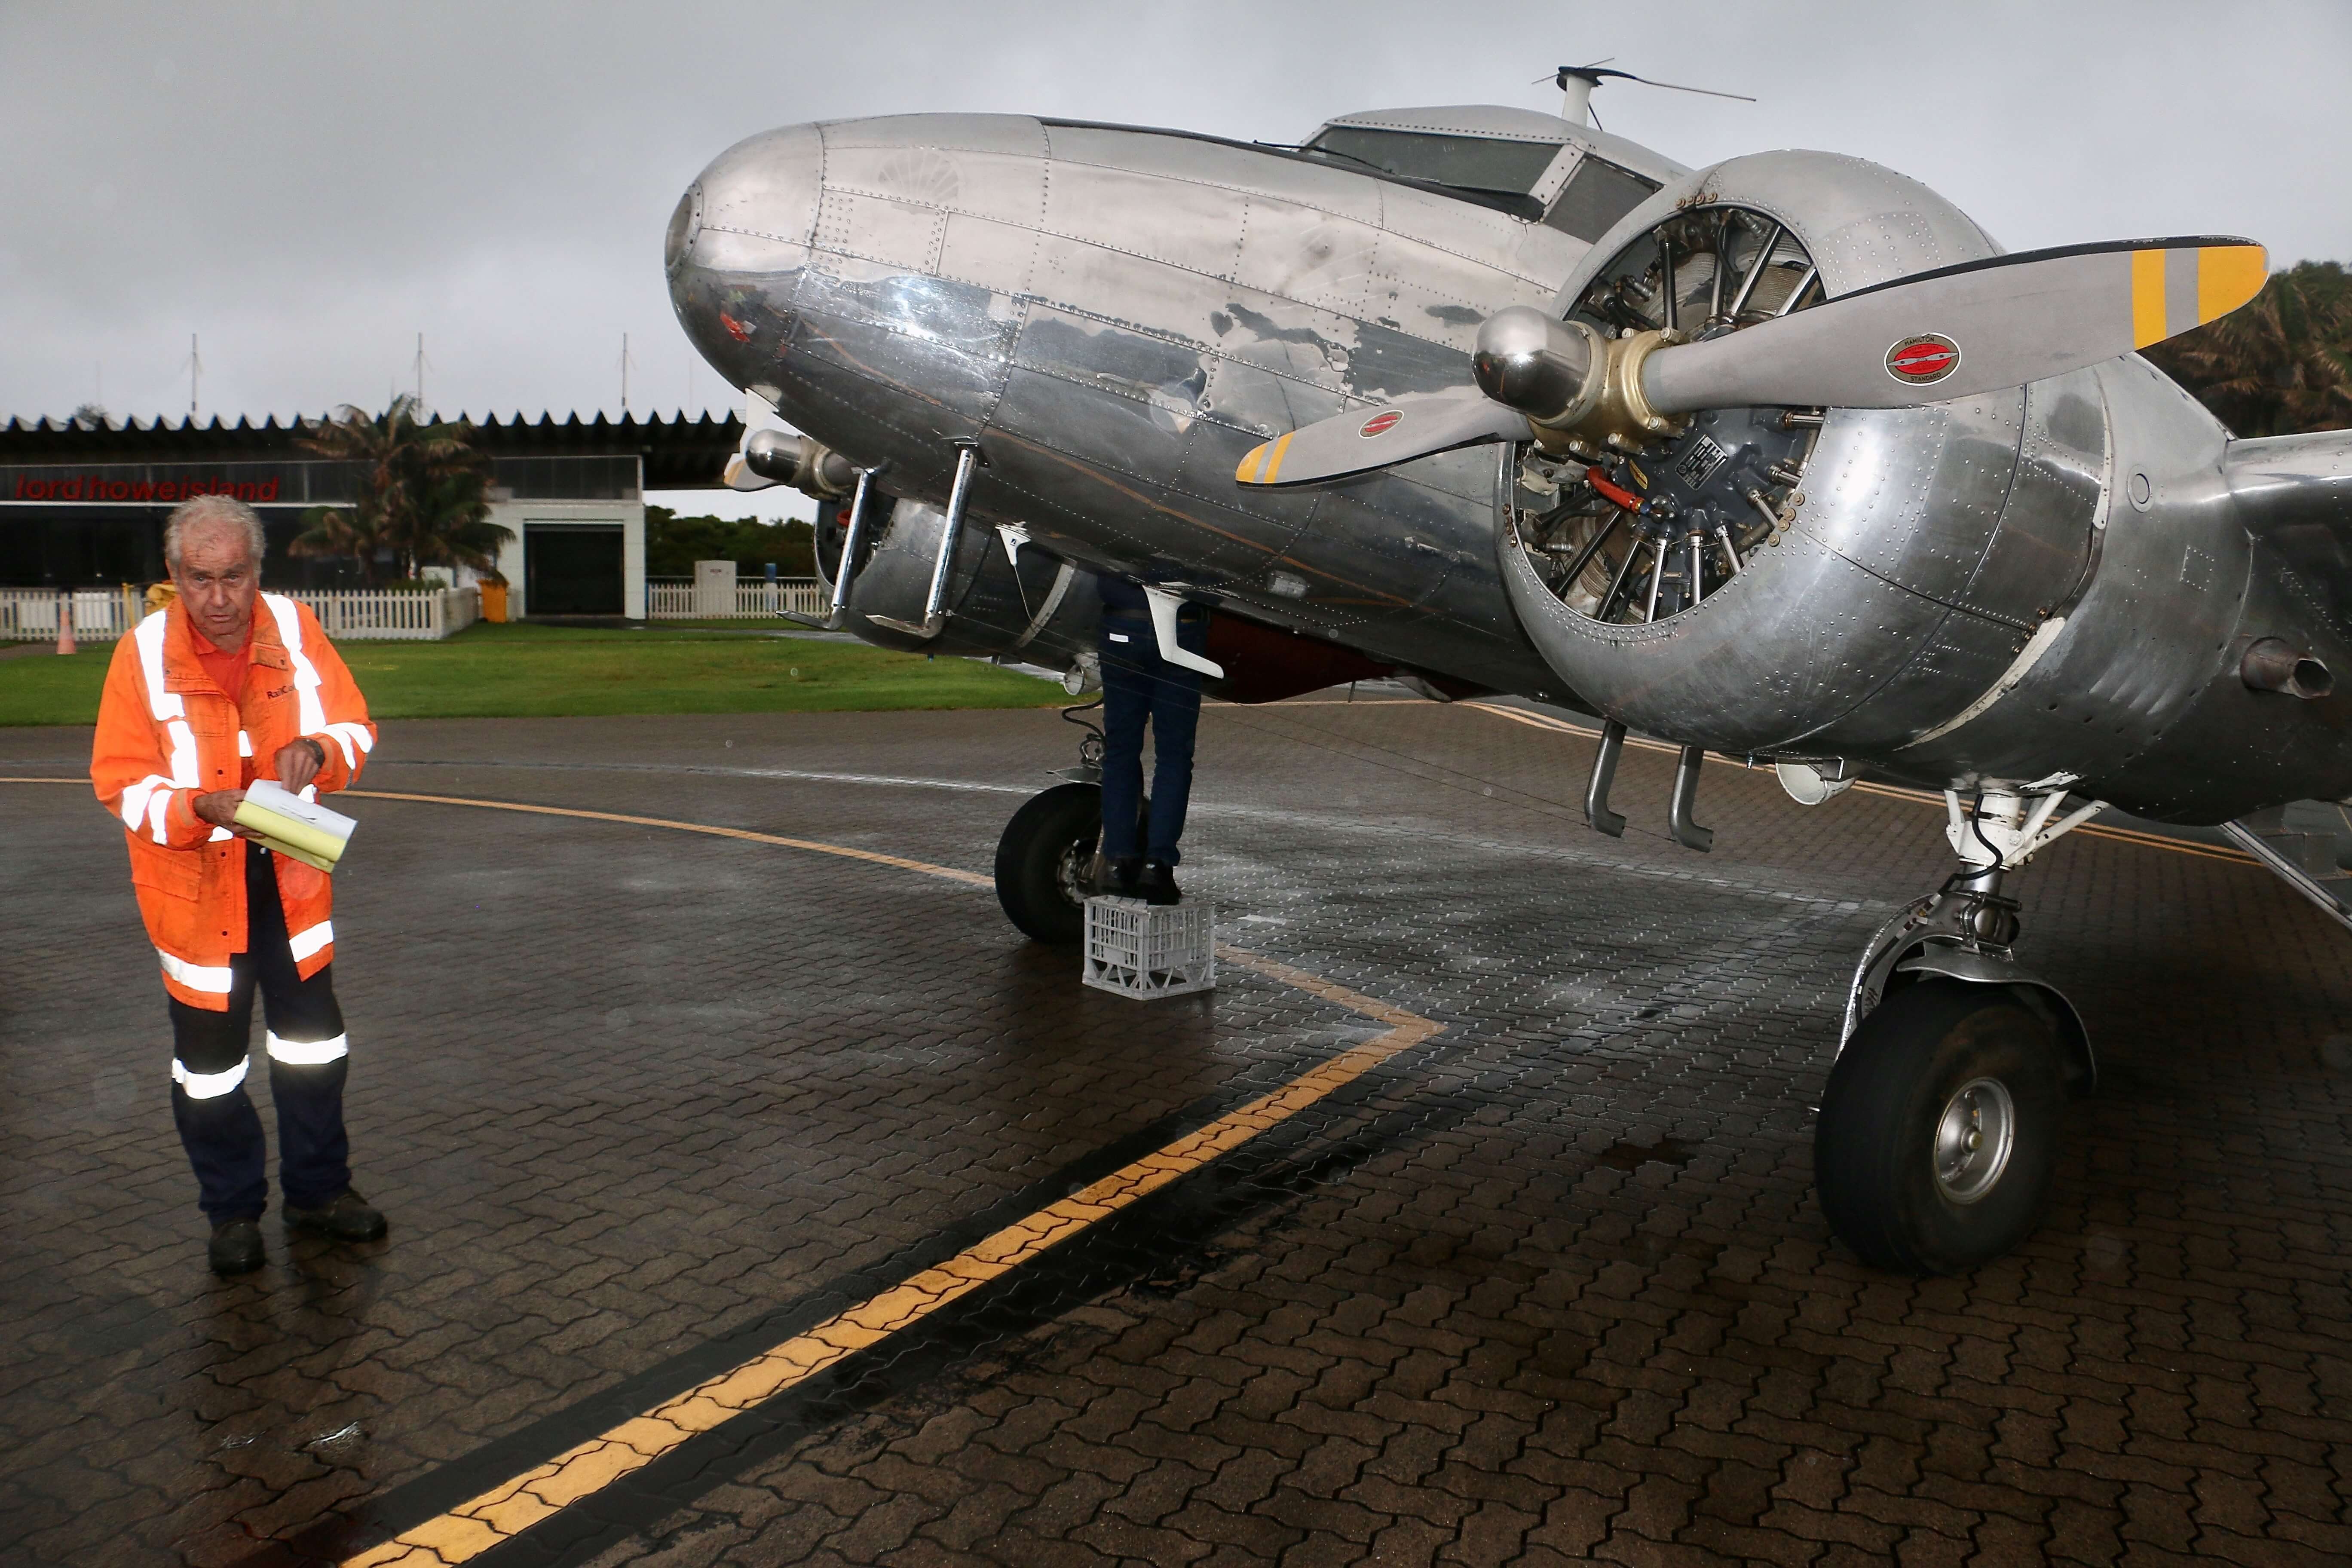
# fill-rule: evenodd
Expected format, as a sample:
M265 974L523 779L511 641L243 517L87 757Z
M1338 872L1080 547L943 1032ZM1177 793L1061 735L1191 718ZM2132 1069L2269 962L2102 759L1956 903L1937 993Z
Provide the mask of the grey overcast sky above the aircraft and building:
M1296 141L1406 103L1557 108L1686 165L1832 148L2002 244L2244 233L2352 259L2352 0L108 5L0 0L0 418L724 409L661 230L795 120L1023 110Z

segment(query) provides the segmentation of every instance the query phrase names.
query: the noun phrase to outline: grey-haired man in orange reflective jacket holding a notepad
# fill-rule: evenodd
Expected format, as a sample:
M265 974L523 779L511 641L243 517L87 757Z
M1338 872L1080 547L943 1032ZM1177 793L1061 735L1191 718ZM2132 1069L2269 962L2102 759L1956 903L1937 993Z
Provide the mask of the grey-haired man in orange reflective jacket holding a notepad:
M172 1013L172 1117L195 1166L216 1274L261 1267L261 1117L245 1093L261 990L289 1227L374 1241L383 1215L350 1185L343 1013L334 1001L332 882L254 844L245 785L315 799L358 778L376 743L367 703L318 616L261 592L261 520L226 496L172 512L179 599L115 644L89 783L122 820L139 914Z

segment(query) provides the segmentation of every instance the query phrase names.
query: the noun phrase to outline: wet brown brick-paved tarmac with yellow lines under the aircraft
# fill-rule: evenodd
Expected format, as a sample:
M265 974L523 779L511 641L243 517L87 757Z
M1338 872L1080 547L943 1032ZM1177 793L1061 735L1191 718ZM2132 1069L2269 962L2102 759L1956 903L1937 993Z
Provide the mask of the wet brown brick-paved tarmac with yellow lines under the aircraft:
M1910 1281L1811 1107L1940 806L1715 764L1698 856L1656 752L1604 839L1526 715L1211 708L1232 952L1136 1004L985 886L1073 738L386 726L336 987L393 1234L238 1281L118 830L0 785L0 1561L2352 1559L2352 938L2263 870L2013 884L2103 1091L2018 1255Z

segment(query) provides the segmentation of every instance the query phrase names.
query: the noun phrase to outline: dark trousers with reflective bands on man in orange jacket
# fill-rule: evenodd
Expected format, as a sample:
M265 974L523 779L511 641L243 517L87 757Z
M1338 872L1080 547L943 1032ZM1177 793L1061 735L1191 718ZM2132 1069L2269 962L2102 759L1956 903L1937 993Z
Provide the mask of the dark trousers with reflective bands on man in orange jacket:
M245 846L245 952L228 959L228 1011L172 999L172 1119L195 1166L198 1201L214 1225L252 1220L268 1206L261 1114L245 1093L254 1041L254 990L268 1025L270 1100L278 1105L278 1180L285 1201L318 1208L350 1185L343 1135L343 1009L332 964L303 980L287 947L278 863Z

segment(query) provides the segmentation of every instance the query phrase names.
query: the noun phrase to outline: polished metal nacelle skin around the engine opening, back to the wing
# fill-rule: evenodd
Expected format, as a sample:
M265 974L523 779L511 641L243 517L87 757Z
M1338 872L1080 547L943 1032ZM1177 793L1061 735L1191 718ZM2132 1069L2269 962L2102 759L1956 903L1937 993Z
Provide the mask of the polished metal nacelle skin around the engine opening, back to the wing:
M1992 254L1924 186L1851 158L1766 153L1628 214L1555 310L1656 223L1708 205L1785 223L1832 299ZM1545 661L1635 729L1724 752L1870 757L1931 788L2042 778L2065 757L2084 797L2213 823L2352 788L2343 705L2265 708L2239 677L2256 637L2343 668L2347 567L2326 574L2331 599L2321 571L2288 569L2237 503L2293 496L2270 512L2303 508L2281 541L2321 557L2328 520L2352 522L2336 447L2232 444L2129 355L1983 397L1828 409L1780 541L1658 623L1592 621L1545 588L1510 524L1510 461L1498 564Z

